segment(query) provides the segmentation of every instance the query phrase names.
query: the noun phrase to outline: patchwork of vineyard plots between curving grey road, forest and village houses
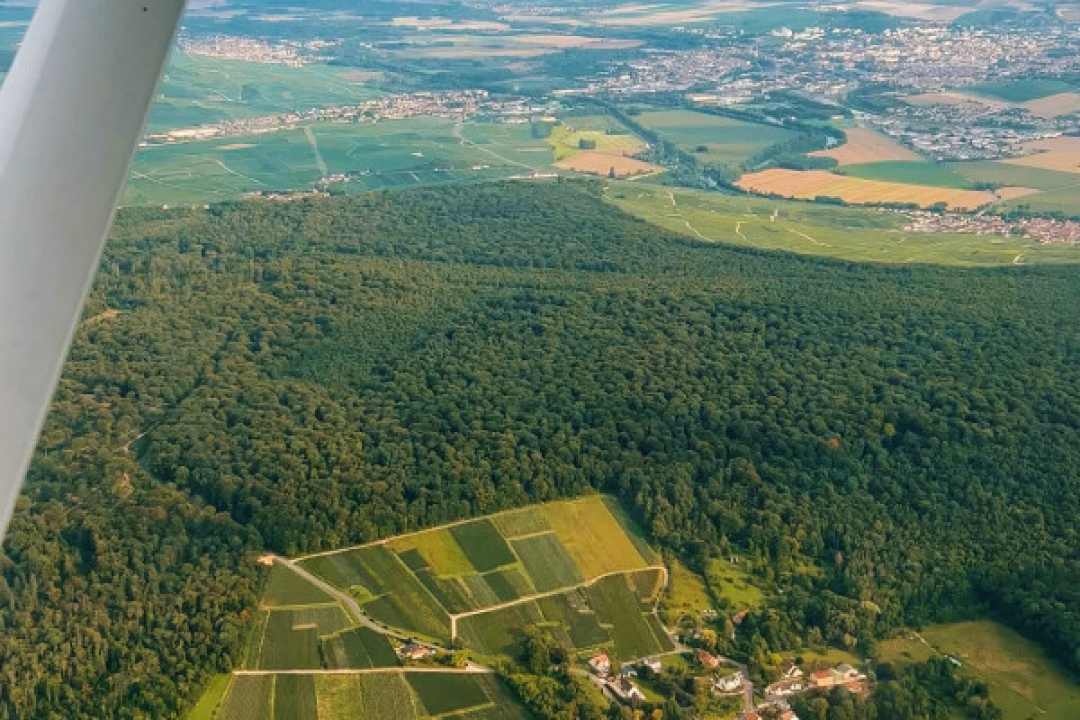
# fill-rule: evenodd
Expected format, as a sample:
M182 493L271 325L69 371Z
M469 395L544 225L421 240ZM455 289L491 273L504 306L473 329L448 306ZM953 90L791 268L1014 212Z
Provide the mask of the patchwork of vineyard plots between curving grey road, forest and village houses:
M526 625L548 628L567 648L610 646L627 658L671 648L652 613L666 570L600 497L512 511L299 563L349 593L387 627L440 642L459 638L487 655L515 652Z

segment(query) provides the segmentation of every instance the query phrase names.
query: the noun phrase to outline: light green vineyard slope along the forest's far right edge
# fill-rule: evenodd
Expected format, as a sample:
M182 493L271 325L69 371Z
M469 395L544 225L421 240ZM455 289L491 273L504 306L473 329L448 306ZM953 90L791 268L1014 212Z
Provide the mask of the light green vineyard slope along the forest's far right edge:
M1076 247L1028 247L1013 237L907 233L899 215L883 210L632 182L609 184L605 196L632 215L704 242L859 262L1011 266L1020 254L1025 263L1080 262Z

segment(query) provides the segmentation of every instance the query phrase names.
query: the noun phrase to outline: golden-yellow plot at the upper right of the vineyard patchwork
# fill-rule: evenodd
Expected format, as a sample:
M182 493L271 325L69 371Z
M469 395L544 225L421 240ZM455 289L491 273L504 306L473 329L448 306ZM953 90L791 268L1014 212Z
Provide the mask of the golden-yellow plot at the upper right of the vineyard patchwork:
M584 578L648 566L599 495L551 503L541 510Z

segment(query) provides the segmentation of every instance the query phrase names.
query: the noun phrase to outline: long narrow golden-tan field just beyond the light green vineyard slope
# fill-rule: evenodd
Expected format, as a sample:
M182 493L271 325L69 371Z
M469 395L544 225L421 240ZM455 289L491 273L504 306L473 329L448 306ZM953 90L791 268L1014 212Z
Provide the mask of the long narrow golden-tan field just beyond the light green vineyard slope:
M864 180L825 171L767 169L744 175L735 185L743 190L759 194L800 200L839 198L853 205L914 203L929 207L937 203L947 203L951 209L974 209L997 200L994 193L981 190L954 190L905 182Z

